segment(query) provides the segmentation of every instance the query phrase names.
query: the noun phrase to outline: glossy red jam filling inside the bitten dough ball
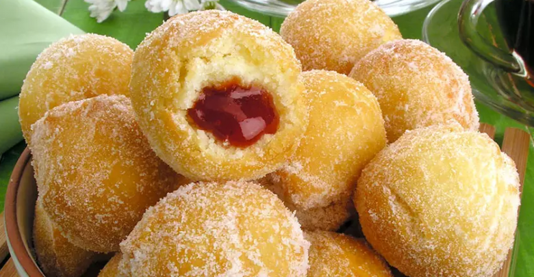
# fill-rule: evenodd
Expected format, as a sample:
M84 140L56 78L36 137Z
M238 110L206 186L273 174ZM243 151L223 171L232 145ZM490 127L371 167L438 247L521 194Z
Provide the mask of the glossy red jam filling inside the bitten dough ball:
M272 96L263 88L245 87L235 80L204 88L188 116L199 129L241 148L254 144L264 133L276 133L279 124Z

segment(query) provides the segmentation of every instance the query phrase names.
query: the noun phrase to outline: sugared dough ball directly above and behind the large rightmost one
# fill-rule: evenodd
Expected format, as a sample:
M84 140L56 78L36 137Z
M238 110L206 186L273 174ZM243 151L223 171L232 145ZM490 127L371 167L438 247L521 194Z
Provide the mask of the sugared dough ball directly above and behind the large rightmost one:
M450 121L479 129L468 76L422 41L383 44L362 58L349 76L377 96L390 142L406 130Z

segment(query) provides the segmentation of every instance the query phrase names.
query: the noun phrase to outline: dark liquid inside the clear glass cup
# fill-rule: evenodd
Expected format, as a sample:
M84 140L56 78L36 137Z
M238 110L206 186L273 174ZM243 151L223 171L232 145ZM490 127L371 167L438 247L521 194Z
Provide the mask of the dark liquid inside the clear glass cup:
M500 28L508 46L534 74L534 0L497 0Z

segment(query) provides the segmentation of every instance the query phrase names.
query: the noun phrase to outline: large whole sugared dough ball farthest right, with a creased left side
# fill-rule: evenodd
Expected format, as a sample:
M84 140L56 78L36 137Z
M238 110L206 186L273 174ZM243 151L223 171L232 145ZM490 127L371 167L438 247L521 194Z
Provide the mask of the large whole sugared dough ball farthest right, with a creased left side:
M366 239L411 277L489 277L513 245L519 198L513 161L458 124L407 131L358 180Z

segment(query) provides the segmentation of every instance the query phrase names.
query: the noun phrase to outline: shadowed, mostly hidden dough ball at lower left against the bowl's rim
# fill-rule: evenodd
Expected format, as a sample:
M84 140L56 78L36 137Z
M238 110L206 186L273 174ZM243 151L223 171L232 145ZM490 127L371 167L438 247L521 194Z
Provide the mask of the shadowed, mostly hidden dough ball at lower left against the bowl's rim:
M34 250L40 269L46 276L79 277L96 257L95 252L83 250L61 235L37 200L34 216Z

